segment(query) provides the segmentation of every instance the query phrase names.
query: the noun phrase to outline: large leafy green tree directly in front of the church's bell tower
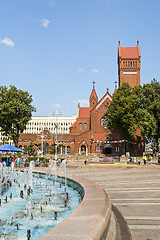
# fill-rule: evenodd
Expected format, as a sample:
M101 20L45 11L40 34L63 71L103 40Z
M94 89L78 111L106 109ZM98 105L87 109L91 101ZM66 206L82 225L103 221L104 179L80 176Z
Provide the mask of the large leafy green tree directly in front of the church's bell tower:
M105 117L108 128L119 133L122 139L133 140L137 129L141 130L144 142L155 134L155 119L142 105L142 89L141 86L132 89L123 83L113 94Z

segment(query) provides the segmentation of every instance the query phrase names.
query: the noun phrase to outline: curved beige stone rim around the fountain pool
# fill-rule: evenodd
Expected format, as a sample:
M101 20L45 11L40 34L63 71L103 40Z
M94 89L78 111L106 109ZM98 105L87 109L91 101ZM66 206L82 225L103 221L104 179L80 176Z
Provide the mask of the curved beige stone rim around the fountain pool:
M115 218L106 192L90 180L71 180L84 189L82 202L39 240L116 240Z

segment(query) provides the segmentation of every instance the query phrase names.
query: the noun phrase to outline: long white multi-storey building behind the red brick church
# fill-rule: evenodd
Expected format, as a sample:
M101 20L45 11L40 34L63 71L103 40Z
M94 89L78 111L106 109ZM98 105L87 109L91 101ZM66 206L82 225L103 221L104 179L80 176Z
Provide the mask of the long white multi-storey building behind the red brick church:
M40 134L42 130L49 130L55 134L55 124L58 125L58 134L68 134L69 128L76 121L76 115L72 117L33 117L28 122L26 130L23 133Z

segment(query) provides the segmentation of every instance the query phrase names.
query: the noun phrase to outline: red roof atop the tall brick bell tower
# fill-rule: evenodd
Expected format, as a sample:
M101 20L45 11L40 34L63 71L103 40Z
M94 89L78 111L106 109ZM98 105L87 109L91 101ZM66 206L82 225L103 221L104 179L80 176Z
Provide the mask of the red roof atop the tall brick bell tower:
M141 57L140 47L120 47L118 46L118 56L121 58L139 58Z

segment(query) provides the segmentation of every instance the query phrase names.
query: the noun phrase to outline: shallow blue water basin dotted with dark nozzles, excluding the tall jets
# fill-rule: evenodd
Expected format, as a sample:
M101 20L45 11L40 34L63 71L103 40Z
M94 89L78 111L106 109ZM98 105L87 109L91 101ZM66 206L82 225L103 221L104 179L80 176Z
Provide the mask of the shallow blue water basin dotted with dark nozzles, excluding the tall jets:
M55 183L54 176L34 174L33 192L25 189L25 177L18 179L2 195L0 239L27 239L27 232L31 233L32 240L38 239L63 221L83 197L80 185L74 186L77 190L73 191L73 183L69 181L69 186L65 185L65 178L57 177Z

